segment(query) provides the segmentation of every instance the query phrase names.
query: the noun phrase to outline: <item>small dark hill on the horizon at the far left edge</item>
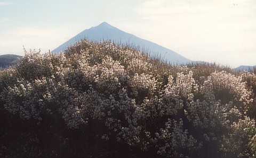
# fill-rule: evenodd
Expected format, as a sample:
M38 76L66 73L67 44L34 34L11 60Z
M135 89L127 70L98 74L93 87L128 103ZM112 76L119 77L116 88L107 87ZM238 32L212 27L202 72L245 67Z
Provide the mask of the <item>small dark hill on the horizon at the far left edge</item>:
M0 55L0 68L6 68L17 64L19 58L22 58L22 56L12 54Z

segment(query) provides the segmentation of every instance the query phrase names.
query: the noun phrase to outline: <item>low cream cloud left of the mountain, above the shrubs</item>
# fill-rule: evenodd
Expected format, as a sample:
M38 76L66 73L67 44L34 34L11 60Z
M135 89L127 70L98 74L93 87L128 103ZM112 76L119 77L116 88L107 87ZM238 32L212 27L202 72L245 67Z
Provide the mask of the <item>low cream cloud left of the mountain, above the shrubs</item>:
M76 34L74 25L67 24L59 27L17 27L2 32L0 37L1 54L17 53L23 55L26 49L39 49L42 52L53 50Z

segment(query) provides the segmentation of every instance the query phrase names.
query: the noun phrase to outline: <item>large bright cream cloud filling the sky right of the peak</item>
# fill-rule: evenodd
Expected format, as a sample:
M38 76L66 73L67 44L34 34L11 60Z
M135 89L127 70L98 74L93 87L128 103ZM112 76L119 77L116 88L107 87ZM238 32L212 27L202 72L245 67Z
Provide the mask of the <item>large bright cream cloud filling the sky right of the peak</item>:
M232 54L250 54L249 60L256 58L251 53L256 51L256 14L253 14L256 5L252 3L249 0L146 1L135 8L141 24L129 27L142 30L142 38L189 59L234 64L230 61L239 58ZM142 24L146 27L138 29Z

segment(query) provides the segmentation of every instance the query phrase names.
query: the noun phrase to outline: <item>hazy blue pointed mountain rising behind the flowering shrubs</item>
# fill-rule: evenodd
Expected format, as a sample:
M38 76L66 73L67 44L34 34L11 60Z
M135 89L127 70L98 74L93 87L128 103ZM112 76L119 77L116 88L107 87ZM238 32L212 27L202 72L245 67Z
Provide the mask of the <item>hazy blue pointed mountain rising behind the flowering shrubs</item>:
M150 51L151 56L161 56L161 58L167 62L170 62L171 64L186 64L191 62L191 60L179 55L177 52L159 46L156 43L150 42L148 40L138 38L133 34L126 33L106 22L101 23L97 27L92 27L82 31L75 37L60 45L58 48L55 48L52 52L58 53L60 51L65 51L68 46L83 38L87 38L90 41L111 40L115 43L129 43L131 45L138 46L140 50L146 50L147 52Z

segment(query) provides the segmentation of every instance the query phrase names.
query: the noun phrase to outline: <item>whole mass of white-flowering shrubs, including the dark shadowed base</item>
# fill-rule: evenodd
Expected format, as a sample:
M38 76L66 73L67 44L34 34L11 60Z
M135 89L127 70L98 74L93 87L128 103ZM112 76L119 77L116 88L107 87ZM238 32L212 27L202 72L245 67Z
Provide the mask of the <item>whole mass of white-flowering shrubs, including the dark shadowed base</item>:
M0 73L0 157L256 156L254 72L83 40Z

